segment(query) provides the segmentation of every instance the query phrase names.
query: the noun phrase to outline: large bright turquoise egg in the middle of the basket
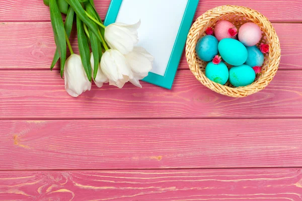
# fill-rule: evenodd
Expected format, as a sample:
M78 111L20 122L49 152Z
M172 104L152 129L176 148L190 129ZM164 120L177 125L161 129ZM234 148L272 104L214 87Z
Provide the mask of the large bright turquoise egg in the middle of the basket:
M247 48L238 40L222 39L218 44L218 51L222 59L233 66L239 66L248 58Z

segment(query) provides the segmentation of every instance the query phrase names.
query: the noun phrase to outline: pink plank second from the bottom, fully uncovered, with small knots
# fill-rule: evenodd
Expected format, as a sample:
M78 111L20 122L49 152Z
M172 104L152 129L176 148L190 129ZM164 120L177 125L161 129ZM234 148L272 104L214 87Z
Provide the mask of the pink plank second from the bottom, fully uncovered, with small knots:
M0 170L302 166L302 119L2 120L0 131Z

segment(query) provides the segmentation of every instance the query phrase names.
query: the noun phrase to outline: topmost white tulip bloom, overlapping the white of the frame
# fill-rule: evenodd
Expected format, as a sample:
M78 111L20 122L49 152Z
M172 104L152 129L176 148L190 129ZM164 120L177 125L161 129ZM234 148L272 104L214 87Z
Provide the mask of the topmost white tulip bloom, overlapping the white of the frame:
M138 43L137 29L140 21L134 25L113 23L105 28L105 40L109 47L122 54L128 54Z

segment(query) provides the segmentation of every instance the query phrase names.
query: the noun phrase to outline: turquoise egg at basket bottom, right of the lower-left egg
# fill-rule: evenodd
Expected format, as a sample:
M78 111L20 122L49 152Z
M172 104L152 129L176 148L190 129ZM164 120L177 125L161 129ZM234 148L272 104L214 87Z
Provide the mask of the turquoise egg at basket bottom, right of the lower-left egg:
M233 86L247 86L253 83L255 78L256 74L251 66L243 64L230 69L229 80Z

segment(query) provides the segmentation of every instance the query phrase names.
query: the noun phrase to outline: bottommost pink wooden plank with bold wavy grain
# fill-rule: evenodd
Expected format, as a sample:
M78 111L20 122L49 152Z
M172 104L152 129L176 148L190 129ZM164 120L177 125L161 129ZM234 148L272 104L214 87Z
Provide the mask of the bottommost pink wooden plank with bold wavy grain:
M301 169L2 171L0 200L299 201Z

